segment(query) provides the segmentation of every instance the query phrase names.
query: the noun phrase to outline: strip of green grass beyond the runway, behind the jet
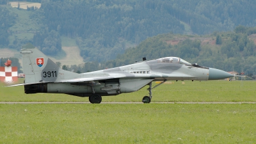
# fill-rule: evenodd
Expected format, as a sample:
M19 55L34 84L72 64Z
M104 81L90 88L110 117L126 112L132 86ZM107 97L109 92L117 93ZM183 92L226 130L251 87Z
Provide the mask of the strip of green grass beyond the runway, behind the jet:
M23 79L20 79L22 83ZM184 84L182 84L182 82ZM153 83L155 85L156 83ZM256 102L256 81L174 81L152 90L152 102ZM141 102L148 86L138 92L102 97L102 102ZM0 86L0 101L88 101L65 94L25 94L23 86Z

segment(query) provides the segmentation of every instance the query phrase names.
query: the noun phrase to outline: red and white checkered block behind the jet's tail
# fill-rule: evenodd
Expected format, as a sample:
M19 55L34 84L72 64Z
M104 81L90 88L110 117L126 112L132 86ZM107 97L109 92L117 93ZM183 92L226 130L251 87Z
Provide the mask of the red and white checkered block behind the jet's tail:
M0 81L4 83L13 83L18 81L18 68L0 67Z

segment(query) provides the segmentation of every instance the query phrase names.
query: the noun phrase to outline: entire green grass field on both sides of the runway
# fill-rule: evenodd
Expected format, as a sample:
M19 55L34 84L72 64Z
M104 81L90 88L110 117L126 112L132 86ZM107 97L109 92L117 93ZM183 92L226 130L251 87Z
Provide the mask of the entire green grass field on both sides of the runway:
M23 79L19 79L20 82ZM156 83L154 83L156 84ZM153 102L255 102L256 81L178 81ZM107 101L140 102L146 88ZM0 101L88 101L0 86ZM256 104L0 104L0 143L255 143Z

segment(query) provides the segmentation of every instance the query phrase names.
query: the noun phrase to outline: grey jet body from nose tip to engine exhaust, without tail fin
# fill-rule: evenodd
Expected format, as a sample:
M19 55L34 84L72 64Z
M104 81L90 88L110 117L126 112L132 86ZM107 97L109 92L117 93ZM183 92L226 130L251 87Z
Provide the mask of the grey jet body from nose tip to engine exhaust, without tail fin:
M56 81L59 81L60 79L70 79L70 74L62 74L61 70L59 70L58 73L59 76L56 77ZM102 96L118 95L120 93L129 93L140 90L140 88L143 88L152 81L207 81L224 79L232 75L215 68L201 67L197 64L191 65L191 63L180 58L167 57L157 60L141 61L122 67L87 72L74 76L72 79L76 79L76 81L77 79L90 79L90 77L94 80L85 82L81 80L82 82L79 83L37 84L36 92L30 91L33 90L33 86L35 85L28 85L25 86L25 91L27 90L26 93L66 93L79 97L90 97L92 93L98 93ZM97 78L95 79L95 77ZM104 79L104 77L108 78Z

